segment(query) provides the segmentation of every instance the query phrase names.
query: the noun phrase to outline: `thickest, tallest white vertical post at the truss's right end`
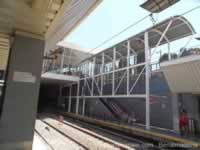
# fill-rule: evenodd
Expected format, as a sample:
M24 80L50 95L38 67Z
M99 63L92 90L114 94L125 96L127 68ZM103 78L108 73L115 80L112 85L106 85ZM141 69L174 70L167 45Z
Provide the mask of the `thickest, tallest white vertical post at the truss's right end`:
M144 34L144 40L145 40L145 87L146 87L146 129L150 129L150 49L149 49L149 35L148 32L145 32Z

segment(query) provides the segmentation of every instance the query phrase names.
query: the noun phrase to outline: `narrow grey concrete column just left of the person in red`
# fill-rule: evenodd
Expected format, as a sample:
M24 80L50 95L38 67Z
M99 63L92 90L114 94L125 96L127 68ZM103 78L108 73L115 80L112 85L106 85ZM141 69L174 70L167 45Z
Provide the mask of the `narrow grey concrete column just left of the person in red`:
M173 130L179 132L179 102L178 94L172 95Z

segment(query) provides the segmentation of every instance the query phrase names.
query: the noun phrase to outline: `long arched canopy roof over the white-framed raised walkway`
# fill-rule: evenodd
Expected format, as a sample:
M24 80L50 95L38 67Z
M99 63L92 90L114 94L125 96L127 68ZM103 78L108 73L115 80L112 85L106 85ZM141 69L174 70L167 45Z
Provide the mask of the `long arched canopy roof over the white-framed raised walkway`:
M168 28L169 24L171 25ZM166 34L163 40L160 42L160 45L170 43L172 41L179 40L181 38L195 34L194 28L186 18L184 18L183 16L174 16L146 29L143 32L136 34L135 36L130 37L129 39L126 39L104 50L104 52L107 53L107 55L109 55L108 51L110 51L110 56L111 56L112 55L111 50L113 49L113 47L116 47L117 51L119 51L122 55L126 56L127 41L130 41L131 49L133 49L135 52L144 50L145 32L149 33L150 48L154 48L166 29L167 29Z

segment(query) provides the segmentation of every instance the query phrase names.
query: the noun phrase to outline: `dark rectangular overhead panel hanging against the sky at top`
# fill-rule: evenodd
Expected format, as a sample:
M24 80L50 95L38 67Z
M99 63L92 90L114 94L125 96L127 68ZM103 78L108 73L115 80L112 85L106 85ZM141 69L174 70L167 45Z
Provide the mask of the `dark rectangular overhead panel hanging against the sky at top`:
M180 0L147 0L140 6L152 13L159 13L179 1Z

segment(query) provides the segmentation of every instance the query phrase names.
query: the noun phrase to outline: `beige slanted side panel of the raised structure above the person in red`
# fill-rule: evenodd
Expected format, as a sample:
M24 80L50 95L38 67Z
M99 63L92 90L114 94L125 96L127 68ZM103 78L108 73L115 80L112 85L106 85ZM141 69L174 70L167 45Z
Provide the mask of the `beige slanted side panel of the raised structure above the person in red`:
M191 55L161 63L172 93L200 94L200 55Z

